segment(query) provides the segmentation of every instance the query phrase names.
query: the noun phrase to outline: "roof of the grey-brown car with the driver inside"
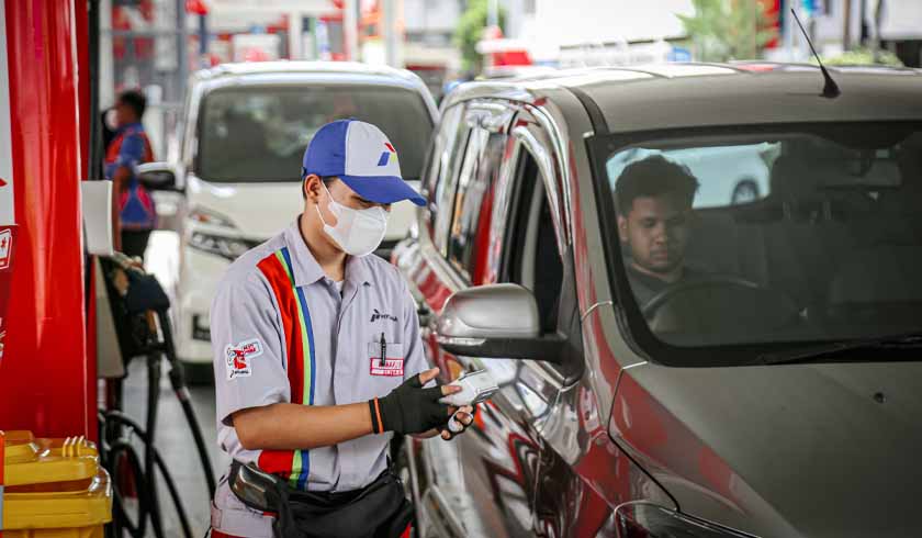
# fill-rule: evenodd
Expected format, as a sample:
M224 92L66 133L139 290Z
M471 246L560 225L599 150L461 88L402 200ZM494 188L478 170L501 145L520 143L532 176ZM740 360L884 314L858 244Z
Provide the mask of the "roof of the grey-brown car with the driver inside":
M597 132L716 125L922 120L922 70L829 67L841 94L821 97L822 72L810 64L747 61L567 69L511 81L462 85L446 100L552 99L573 92Z

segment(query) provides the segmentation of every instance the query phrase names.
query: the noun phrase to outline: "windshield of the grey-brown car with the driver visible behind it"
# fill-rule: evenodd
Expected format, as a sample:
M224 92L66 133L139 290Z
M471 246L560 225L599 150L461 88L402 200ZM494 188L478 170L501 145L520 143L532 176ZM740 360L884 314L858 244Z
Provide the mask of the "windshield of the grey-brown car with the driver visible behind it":
M922 330L922 126L646 136L607 138L597 169L612 278L657 345Z

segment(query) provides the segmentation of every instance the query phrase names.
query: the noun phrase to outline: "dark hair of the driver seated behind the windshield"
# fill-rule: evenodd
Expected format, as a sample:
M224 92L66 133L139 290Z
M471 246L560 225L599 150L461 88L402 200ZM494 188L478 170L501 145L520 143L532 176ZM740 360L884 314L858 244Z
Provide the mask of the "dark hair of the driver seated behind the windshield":
M698 180L688 167L662 155L653 155L631 162L618 176L615 203L621 215L631 211L633 201L638 198L676 195L690 208L697 190Z

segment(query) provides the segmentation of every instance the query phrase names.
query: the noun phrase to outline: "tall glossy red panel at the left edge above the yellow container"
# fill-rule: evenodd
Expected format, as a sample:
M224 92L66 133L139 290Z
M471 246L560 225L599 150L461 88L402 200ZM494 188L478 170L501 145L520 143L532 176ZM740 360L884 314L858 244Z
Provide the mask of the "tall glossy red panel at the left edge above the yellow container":
M0 424L89 435L74 0L3 4L19 229Z

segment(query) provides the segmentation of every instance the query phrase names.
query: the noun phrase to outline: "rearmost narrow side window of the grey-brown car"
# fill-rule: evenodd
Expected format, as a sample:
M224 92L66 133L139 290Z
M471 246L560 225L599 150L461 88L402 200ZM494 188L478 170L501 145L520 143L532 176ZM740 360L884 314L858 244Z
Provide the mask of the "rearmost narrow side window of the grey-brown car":
M432 195L435 206L431 203L429 204L429 211L434 212L434 217L430 221L432 242L442 256L448 254L448 233L451 227L451 211L454 208L458 176L471 133L471 126L463 119L464 109L457 107L452 111L456 115L450 117L450 123L446 123L446 128L439 132L439 136L442 137L439 143L442 149L436 154L438 173L435 194Z

